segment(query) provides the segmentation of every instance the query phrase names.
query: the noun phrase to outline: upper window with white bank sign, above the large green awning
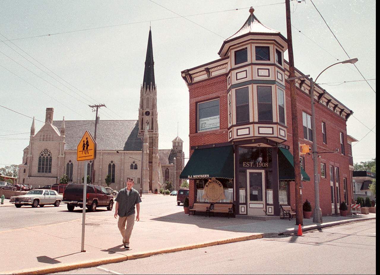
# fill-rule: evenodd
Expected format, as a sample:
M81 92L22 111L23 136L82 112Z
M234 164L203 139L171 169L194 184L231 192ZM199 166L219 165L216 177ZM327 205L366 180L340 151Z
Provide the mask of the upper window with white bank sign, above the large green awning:
M198 132L219 129L219 99L198 103Z

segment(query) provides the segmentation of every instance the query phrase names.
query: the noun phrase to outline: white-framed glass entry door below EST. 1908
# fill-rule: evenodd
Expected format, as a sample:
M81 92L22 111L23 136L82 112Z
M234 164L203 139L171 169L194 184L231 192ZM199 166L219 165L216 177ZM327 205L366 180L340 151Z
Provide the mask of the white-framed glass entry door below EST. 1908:
M247 214L264 216L265 213L265 171L247 170Z

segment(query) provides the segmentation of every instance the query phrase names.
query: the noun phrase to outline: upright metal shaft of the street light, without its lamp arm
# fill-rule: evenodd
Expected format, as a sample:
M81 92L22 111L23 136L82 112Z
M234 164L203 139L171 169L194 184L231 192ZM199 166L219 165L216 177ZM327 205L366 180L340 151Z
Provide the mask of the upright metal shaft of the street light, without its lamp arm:
M315 208L313 215L313 223L322 223L322 211L319 205L319 174L317 161L317 131L315 126L315 110L314 110L314 82L310 77L310 99L311 99L311 126L313 131L313 164L314 164L314 199Z

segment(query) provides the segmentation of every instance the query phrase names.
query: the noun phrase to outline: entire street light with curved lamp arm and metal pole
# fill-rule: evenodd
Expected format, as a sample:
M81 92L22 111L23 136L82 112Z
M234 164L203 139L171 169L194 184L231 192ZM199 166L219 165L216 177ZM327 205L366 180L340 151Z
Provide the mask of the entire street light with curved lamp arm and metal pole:
M320 72L318 74L317 78L315 79L315 82L317 82L318 77L326 71L328 68L331 68L334 65L337 64L346 64L351 63L355 64L358 61L358 58L351 58L348 60L340 61L337 63L334 63L330 66L328 66L326 69ZM298 78L307 77L306 75L303 75ZM313 131L313 165L314 165L314 197L315 197L315 208L314 208L314 215L313 215L313 223L322 223L322 212L319 204L319 174L318 174L318 163L317 163L317 133L315 130L315 111L314 111L314 83L313 78L310 77L310 99L311 99L311 117L312 117L312 131ZM335 189L335 187L334 187Z

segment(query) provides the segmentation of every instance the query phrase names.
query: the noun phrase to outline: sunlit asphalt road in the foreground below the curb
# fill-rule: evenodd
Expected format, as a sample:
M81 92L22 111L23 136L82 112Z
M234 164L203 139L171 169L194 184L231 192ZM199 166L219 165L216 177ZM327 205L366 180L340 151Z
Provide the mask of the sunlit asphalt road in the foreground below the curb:
M376 221L55 274L375 274Z

